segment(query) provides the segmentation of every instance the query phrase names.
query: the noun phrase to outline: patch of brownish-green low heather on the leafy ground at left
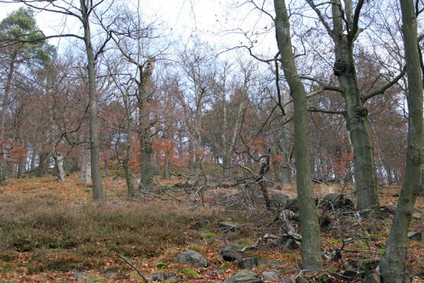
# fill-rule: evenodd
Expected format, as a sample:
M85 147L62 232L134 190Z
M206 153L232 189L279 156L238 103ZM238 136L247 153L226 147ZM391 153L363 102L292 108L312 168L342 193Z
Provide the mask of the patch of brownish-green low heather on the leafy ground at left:
M207 218L162 204L72 204L23 195L0 202L0 263L25 253L30 273L100 269L102 258L117 253L148 258L186 244L192 221Z

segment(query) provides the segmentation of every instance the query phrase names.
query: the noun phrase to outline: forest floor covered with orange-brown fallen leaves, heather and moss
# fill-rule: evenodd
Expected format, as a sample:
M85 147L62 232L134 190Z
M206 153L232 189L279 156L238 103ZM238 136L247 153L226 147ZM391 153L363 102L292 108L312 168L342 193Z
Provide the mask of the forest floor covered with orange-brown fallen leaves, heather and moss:
M173 190L170 186L179 181L158 180L157 190L129 201L124 179L105 177L106 201L93 203L91 188L79 182L77 175L64 183L54 177L9 180L0 193L0 282L143 282L119 255L148 278L157 272L177 272L184 282L223 282L240 271L235 262L220 256L223 244L243 248L266 233L280 233L281 223L273 222L278 214L266 212L259 190L211 187L202 194ZM321 197L338 190L338 185L317 185L315 192ZM398 190L380 188L383 207L395 208ZM296 195L294 187L269 193ZM423 197L418 197L416 212L424 215ZM325 272L308 275L310 282L341 282L337 274L353 265L375 268L384 253L392 216L363 219L356 225L329 215L332 224L322 229L322 247L331 252L346 241L343 258L324 260ZM237 231L223 233L218 229L220 221L233 221ZM411 231L424 231L423 219L413 219ZM210 265L193 268L177 262L175 256L187 249L199 251ZM270 247L264 241L245 253L279 262L278 267L253 267L259 277L270 270L279 270L281 279L300 272L299 249ZM424 282L423 258L424 241L408 241L408 270L414 282Z

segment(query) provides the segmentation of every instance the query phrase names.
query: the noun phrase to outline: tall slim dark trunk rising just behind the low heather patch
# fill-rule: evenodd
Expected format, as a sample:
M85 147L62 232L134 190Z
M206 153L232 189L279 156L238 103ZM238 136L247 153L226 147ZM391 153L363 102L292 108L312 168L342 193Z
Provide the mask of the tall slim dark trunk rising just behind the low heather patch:
M91 44L90 21L88 20L88 8L84 0L80 0L81 18L84 27L84 43L87 52L87 69L88 69L88 96L89 107L88 117L90 123L90 163L91 178L93 183L93 201L105 200L102 189L102 178L100 176L100 141L98 137L98 104L95 82L95 57L93 45Z

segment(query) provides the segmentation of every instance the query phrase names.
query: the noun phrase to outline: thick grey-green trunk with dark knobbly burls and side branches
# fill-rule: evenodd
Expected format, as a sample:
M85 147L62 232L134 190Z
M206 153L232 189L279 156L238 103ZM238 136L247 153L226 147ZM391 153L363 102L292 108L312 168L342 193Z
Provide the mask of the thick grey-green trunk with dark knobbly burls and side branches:
M355 184L358 209L378 208L377 173L374 166L370 130L368 129L367 109L358 88L358 81L353 59L353 40L343 34L341 2L335 0L333 11L334 47L336 62L334 74L343 88L345 101L345 118L353 146L355 164ZM349 7L351 10L351 7Z

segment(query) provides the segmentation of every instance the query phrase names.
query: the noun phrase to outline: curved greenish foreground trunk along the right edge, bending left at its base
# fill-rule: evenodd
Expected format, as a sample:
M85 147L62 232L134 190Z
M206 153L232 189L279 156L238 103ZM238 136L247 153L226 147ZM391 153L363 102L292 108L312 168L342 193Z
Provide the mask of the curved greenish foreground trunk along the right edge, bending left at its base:
M384 283L411 282L406 272L408 229L423 165L423 83L418 53L416 11L412 0L401 0L406 74L408 74L408 148L406 173L393 226L379 267Z

